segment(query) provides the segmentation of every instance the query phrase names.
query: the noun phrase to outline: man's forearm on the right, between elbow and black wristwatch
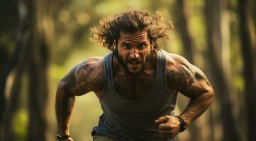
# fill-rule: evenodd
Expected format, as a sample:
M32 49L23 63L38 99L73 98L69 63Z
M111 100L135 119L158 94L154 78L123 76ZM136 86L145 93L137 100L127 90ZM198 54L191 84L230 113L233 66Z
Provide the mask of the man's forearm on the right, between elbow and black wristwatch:
M187 108L180 114L180 117L184 119L187 124L190 124L208 109L211 102L213 102L213 91L199 94L197 97L191 98Z

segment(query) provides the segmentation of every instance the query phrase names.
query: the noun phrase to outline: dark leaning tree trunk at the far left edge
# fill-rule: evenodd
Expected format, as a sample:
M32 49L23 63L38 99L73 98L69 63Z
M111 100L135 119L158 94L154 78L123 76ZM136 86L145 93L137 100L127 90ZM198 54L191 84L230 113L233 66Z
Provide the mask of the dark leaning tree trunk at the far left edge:
M1 133L0 140L16 140L16 137L13 133L13 118L18 109L18 100L20 97L20 91L22 87L21 78L23 75L23 66L26 58L27 51L27 41L28 35L30 32L28 31L27 25L27 17L26 13L22 13L24 8L23 3L18 3L18 15L19 15L19 27L16 36L16 50L13 53L11 61L8 63L6 72L4 73L4 80L2 80L3 85L1 86L1 93L5 96L6 92L6 81L11 74L11 71L14 71L14 78L11 84L11 92L9 99L6 102L1 103L4 106L4 110L1 111L3 114L1 115L3 119L1 119Z

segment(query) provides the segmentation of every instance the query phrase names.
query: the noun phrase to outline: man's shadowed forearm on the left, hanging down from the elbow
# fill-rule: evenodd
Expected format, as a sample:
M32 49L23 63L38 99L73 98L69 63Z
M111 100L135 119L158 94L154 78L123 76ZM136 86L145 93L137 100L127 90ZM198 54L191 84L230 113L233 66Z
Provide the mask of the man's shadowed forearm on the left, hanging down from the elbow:
M57 88L55 112L57 117L57 134L69 135L69 121L74 107L74 96L64 89L62 82Z

